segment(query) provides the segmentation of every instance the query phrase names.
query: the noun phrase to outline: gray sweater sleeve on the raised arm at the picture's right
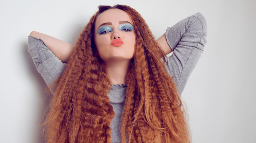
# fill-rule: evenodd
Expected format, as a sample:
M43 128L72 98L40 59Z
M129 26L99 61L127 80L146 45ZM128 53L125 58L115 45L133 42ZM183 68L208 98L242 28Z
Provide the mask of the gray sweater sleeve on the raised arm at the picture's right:
M166 40L173 50L165 66L182 94L206 43L207 24L201 13L185 18L166 29Z

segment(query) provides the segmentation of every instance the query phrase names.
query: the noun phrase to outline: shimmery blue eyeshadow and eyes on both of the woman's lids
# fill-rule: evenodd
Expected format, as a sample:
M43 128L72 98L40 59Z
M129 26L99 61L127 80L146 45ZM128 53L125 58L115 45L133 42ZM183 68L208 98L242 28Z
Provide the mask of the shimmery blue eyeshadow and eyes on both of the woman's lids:
M125 23L125 24L120 24L118 26L118 29L121 31L125 30L125 29L127 29L128 31L133 31L134 28L133 28L132 24ZM111 31L113 31L113 29L110 26L100 26L98 28L97 34L106 34Z

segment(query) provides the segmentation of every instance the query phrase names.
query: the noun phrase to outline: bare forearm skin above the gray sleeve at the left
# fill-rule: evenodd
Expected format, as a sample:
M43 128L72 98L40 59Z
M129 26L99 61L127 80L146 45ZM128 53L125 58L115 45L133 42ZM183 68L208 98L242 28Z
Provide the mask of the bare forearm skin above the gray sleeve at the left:
M53 52L53 54L60 59L63 63L66 63L71 55L74 46L70 43L58 40L52 36L32 31L30 36L40 38L48 46L48 48Z

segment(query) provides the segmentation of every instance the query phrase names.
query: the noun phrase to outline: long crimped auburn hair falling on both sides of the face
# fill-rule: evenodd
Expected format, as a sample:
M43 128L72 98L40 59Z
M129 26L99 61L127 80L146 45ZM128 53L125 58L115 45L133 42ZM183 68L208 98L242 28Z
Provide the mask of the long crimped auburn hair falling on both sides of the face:
M53 84L55 94L45 121L48 143L111 143L110 80L96 54L94 28L97 16L118 8L132 19L135 56L126 76L122 113L122 143L190 142L189 128L176 85L161 60L164 53L148 25L133 8L99 6L76 41L66 69Z

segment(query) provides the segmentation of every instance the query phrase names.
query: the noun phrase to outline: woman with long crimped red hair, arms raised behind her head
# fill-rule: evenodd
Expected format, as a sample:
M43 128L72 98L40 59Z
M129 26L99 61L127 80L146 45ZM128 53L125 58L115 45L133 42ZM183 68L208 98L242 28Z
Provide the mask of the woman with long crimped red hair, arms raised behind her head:
M32 32L29 52L54 87L48 142L190 142L179 94L206 29L197 13L156 41L136 10L116 5L99 6L75 47Z

